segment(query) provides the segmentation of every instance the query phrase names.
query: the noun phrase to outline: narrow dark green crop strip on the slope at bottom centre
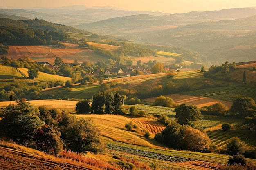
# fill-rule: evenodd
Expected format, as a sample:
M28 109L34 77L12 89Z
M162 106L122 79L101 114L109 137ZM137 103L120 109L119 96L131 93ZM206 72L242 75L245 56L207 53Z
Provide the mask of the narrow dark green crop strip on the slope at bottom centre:
M166 155L162 153L152 152L152 151L146 151L146 150L139 150L135 148L128 148L125 146L119 146L115 144L107 144L107 148L110 150L115 150L119 152L125 152L128 154L138 155L141 157L148 157L152 159L158 159L161 161L170 161L170 162L185 162L185 161L194 161L194 159L184 158L184 157L178 157L178 156L171 156Z

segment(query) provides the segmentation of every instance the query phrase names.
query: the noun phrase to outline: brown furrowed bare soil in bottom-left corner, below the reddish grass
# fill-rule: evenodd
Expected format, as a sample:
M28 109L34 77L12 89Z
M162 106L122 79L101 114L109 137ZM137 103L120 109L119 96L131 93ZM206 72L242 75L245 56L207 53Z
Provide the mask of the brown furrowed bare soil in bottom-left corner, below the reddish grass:
M0 169L2 170L92 170L71 163L57 162L52 159L33 155L0 146Z

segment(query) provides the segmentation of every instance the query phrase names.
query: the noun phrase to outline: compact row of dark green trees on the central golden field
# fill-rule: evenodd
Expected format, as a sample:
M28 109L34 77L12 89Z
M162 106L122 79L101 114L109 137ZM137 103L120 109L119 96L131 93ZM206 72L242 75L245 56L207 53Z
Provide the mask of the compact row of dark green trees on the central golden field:
M76 104L77 113L123 114L122 98L119 93L98 92L93 95L92 102L83 99Z

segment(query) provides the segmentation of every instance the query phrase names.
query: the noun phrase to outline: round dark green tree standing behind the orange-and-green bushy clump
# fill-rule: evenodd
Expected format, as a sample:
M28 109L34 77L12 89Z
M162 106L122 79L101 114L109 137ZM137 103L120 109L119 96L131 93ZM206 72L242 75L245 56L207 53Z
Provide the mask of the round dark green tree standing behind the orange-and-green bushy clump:
M175 118L179 124L189 124L190 121L196 121L200 118L201 112L196 106L192 104L181 104L178 108L175 108Z

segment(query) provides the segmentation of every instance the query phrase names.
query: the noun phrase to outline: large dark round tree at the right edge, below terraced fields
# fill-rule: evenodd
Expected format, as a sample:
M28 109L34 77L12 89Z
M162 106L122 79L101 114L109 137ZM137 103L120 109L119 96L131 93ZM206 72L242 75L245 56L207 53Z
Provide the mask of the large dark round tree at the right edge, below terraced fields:
M245 118L246 116L249 116L246 112L247 109L256 109L254 99L252 99L252 97L237 97L236 100L234 100L230 111L231 113L239 114L241 118Z

